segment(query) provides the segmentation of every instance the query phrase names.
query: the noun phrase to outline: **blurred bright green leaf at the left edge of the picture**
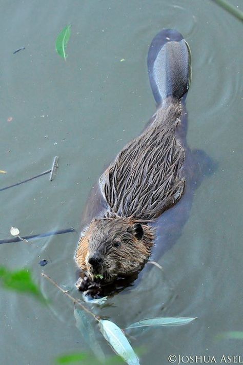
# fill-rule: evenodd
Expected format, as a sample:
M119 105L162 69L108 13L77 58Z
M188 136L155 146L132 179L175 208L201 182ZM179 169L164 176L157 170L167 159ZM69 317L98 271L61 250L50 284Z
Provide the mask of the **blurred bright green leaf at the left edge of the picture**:
M46 301L37 285L34 283L30 271L27 269L10 271L1 266L0 283L5 289L28 293L41 301Z

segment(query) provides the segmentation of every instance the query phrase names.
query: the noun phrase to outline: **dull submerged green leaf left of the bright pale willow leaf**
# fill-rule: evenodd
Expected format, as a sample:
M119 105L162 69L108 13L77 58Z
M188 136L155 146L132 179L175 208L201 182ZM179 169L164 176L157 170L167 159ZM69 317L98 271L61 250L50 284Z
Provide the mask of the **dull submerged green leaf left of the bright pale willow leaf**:
M96 339L96 333L94 331L94 326L91 324L90 316L88 316L85 311L75 308L74 317L76 319L76 327L83 335L85 342L94 353L95 357L99 361L104 362L105 355Z

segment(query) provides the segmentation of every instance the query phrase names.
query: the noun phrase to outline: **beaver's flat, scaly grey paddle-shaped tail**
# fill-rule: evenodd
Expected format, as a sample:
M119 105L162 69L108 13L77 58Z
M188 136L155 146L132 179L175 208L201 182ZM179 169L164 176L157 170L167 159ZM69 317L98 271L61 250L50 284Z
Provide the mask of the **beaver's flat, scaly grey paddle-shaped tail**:
M174 29L159 32L148 53L149 81L157 104L186 94L190 69L190 50L183 36Z

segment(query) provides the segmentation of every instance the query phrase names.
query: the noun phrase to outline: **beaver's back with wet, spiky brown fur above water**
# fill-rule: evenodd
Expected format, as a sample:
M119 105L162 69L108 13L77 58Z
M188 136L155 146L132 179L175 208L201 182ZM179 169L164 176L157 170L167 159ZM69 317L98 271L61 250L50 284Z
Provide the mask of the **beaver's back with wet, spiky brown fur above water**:
M173 206L184 190L185 152L176 137L180 103L171 99L152 124L120 151L100 178L108 216L151 220Z

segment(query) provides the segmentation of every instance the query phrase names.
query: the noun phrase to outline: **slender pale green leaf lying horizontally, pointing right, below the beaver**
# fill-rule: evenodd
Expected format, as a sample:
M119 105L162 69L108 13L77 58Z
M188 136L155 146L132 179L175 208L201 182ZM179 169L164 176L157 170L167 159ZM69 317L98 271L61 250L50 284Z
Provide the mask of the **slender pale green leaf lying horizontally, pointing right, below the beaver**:
M190 323L197 317L161 317L161 318L147 318L142 319L138 322L132 323L129 327L127 327L125 330L131 329L131 328L138 328L138 327L147 327L147 326L170 326L170 325L183 325Z

